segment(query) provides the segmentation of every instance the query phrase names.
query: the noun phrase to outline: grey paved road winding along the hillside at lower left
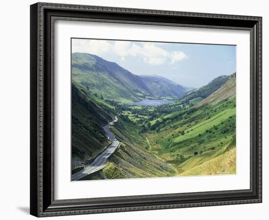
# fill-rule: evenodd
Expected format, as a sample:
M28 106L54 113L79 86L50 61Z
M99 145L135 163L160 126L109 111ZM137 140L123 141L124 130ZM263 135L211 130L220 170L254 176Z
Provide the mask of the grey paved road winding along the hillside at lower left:
M104 126L103 129L106 133L107 138L111 141L111 144L106 148L106 150L97 156L93 162L85 166L85 168L75 174L72 175L72 181L79 180L83 178L84 176L87 176L89 174L92 174L96 171L102 170L104 167L106 167L106 161L107 158L114 153L114 151L117 149L119 142L115 138L115 135L109 130L109 126L112 126L114 122L117 122L118 118L115 116L113 118L113 121L110 122L108 125Z

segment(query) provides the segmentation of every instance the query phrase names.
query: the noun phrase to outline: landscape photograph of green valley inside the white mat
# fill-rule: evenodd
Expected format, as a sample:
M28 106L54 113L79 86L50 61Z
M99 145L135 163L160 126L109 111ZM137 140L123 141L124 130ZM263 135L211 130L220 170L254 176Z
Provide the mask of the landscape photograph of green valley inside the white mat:
M72 38L70 164L71 181L236 174L236 46Z

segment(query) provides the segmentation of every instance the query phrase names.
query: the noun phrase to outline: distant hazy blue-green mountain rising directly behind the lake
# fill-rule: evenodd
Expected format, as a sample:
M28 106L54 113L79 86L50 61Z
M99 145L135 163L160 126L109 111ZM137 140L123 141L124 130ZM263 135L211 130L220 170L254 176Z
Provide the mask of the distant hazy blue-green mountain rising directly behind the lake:
M142 75L140 77L157 97L179 97L187 91L187 88L160 76Z

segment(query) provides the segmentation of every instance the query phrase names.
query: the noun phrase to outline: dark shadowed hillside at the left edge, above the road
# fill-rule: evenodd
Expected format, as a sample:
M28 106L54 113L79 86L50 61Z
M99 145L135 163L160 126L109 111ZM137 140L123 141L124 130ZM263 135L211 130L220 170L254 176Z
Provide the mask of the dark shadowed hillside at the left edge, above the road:
M114 110L101 101L72 84L73 162L88 160L108 145L102 125L112 120Z

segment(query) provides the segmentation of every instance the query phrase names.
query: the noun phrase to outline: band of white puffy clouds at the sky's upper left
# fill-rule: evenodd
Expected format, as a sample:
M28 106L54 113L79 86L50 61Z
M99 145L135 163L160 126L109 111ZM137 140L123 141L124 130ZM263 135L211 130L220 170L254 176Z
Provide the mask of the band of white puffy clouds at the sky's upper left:
M72 40L72 52L92 53L98 56L103 54L115 54L122 61L127 56L141 57L143 62L151 65L165 63L174 64L187 58L183 51L168 51L160 47L164 43L134 43L130 41L106 41L106 40Z

